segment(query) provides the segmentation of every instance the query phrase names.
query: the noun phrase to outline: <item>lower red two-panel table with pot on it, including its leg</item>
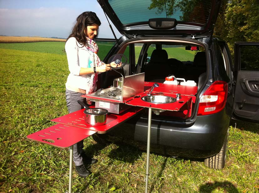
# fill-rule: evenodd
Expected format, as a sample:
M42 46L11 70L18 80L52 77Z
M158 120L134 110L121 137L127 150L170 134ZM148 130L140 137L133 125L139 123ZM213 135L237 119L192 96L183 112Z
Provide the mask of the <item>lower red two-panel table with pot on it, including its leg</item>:
M69 147L69 193L72 192L73 145L95 133L106 133L109 129L127 121L141 111L143 107L134 106L127 111L117 114L108 114L107 122L101 126L86 125L84 109L55 118L51 121L58 124L37 131L27 136L28 139L51 146Z

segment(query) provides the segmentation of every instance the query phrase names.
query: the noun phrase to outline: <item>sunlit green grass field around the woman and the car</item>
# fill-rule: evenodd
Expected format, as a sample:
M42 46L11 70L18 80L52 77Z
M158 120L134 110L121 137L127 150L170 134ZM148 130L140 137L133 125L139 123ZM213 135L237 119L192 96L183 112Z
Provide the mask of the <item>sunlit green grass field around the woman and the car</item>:
M68 190L68 149L26 139L27 135L54 125L51 119L68 113L66 56L62 49L49 48L64 43L44 43L13 47L0 44L1 193ZM232 123L223 170L209 169L201 160L151 153L149 192L259 192L258 125ZM126 141L104 146L89 137L84 143L85 152L98 162L91 166L92 174L85 179L77 175L73 166L73 192L144 192L145 151Z

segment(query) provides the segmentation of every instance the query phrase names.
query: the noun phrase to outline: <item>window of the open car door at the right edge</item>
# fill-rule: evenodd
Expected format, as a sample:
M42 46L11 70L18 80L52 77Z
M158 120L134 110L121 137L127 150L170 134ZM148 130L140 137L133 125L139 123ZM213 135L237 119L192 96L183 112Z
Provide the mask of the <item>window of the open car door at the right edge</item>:
M259 70L259 46L240 46L241 70L258 71Z

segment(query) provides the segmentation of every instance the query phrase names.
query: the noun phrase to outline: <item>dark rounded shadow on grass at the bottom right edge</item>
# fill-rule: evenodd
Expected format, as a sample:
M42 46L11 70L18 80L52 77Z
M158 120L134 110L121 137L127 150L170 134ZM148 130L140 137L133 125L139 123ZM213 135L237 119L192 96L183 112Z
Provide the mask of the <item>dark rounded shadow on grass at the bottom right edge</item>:
M229 181L218 182L215 181L214 183L206 183L199 187L200 193L211 193L216 189L224 189L224 192L229 193L239 193L236 187Z

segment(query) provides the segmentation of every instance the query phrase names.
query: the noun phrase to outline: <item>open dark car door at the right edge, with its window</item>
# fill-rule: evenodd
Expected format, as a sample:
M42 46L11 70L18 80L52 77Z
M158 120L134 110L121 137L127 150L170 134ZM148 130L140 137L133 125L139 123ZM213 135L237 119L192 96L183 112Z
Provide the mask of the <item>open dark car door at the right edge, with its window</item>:
M259 122L259 42L235 43L233 118Z

